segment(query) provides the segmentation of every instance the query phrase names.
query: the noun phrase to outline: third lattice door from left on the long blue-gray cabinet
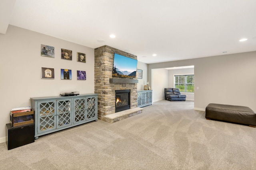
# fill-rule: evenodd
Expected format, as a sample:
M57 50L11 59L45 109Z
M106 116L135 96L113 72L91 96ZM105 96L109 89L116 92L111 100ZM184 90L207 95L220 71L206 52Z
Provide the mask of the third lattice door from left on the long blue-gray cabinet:
M86 98L74 98L74 123L86 120L85 101Z

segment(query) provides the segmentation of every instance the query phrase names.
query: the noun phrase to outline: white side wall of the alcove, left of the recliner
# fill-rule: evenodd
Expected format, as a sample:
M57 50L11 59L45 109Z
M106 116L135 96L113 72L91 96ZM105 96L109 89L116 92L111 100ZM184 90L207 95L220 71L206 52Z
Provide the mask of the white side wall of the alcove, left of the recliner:
M168 87L168 70L165 68L152 69L153 102L164 100L164 88Z

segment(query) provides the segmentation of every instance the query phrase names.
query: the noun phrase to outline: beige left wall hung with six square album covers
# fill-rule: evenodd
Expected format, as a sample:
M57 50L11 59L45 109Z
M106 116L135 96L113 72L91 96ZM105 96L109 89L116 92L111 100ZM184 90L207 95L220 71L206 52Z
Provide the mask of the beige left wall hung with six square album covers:
M41 44L55 47L55 58L42 57ZM10 110L31 106L30 97L59 96L62 91L94 93L92 48L12 25L0 34L0 48L0 143L5 141ZM72 50L72 61L61 59L61 49ZM77 52L86 54L86 63L76 61ZM55 68L55 79L41 79L41 67ZM72 80L60 80L61 68L72 70ZM77 80L76 70L86 71L86 80Z

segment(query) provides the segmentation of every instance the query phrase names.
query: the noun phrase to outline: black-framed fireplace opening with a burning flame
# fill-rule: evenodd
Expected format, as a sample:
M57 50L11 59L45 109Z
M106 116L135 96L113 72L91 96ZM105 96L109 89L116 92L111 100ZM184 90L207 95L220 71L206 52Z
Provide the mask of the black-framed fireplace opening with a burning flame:
M116 90L116 112L130 109L130 91Z

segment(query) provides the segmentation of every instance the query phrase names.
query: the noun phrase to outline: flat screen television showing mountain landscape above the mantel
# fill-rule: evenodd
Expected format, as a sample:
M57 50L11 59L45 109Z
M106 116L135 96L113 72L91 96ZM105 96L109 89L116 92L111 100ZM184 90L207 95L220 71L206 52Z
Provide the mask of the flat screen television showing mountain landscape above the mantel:
M138 61L114 53L112 77L136 78Z

